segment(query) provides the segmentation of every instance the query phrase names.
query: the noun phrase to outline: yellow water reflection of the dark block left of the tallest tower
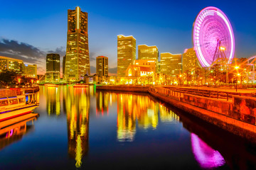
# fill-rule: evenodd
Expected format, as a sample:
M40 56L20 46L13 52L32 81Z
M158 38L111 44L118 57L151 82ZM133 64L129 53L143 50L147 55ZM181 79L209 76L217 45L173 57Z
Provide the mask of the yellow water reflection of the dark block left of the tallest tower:
M48 115L60 115L60 87L45 86Z

